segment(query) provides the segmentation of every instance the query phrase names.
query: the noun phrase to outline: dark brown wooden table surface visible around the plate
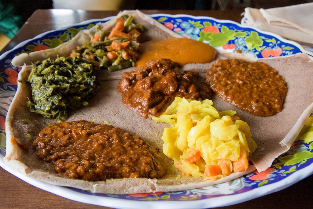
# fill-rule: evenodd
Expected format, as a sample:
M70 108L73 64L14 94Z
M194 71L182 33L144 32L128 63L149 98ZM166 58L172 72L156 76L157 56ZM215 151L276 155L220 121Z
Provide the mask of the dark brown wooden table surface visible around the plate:
M147 14L190 14L194 16L209 16L217 19L227 19L240 22L241 13L244 9L232 11L179 11L179 10L148 10ZM0 52L6 52L18 43L33 38L34 36L64 27L70 24L79 23L89 19L114 16L118 11L83 11L83 10L37 10L28 19L11 42ZM263 197L259 197L227 208L310 208L310 199L313 188L313 175L282 190ZM75 202L59 197L50 192L38 189L0 168L1 202L0 208L106 208L85 203ZM226 208L226 207L223 207Z

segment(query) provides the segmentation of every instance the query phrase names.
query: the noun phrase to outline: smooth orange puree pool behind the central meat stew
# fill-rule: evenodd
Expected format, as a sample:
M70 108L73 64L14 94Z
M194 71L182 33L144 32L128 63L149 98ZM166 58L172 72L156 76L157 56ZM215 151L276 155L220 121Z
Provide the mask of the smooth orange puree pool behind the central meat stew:
M187 63L206 63L215 58L216 50L206 43L188 38L169 38L141 44L143 52L136 66L145 66L149 60L171 59L181 66Z

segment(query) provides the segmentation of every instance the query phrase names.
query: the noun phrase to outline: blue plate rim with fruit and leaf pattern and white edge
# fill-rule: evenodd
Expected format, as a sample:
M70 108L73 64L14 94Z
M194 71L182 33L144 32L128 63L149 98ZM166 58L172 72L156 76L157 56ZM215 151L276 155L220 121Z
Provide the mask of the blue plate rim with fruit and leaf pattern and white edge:
M206 42L227 52L249 53L255 57L287 56L306 52L295 42L254 27L233 21L190 15L154 14L169 29L184 37ZM228 206L279 191L310 176L313 173L313 115L291 149L278 157L264 172L252 172L230 182L199 189L153 194L110 195L96 194L79 189L60 187L40 182L12 170L3 162L5 155L5 116L17 87L16 77L20 69L13 67L12 58L22 52L32 52L55 47L74 37L81 29L112 17L94 19L59 30L42 33L21 42L0 56L0 166L29 184L74 201L115 208L209 208Z

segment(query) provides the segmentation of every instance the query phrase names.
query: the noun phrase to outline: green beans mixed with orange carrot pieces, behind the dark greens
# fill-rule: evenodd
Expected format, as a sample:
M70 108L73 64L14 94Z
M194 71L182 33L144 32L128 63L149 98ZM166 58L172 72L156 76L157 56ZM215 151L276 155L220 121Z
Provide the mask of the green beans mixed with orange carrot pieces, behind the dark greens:
M133 20L134 17L128 15L119 17L110 32L103 31L100 25L97 25L91 40L72 50L70 56L93 60L100 68L109 69L111 72L135 66L136 59L139 58L137 39L144 27L135 24ZM112 52L118 56L112 56Z

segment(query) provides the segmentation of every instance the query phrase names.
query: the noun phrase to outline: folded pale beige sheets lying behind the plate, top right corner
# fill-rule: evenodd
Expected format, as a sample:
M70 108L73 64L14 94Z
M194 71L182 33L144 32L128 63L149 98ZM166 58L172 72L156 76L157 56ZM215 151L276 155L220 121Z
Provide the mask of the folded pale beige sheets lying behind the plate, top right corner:
M313 2L270 9L247 7L244 17L242 24L313 46Z

